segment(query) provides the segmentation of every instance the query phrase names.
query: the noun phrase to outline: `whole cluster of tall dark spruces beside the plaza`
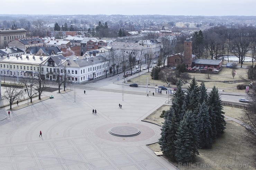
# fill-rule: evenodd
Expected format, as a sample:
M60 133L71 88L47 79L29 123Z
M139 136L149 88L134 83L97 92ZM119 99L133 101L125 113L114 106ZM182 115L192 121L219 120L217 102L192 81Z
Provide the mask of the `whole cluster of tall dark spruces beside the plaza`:
M198 86L192 79L186 93L177 82L170 110L164 115L159 144L172 161L192 162L199 148L211 147L225 130L223 107L215 86L207 94L204 82Z

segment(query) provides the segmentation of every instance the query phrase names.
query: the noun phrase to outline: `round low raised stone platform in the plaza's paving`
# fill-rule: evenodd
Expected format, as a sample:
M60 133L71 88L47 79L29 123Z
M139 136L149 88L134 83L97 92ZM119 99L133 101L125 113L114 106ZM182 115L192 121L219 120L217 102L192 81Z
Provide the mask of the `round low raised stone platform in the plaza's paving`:
M109 133L120 137L130 137L140 134L140 130L132 126L117 126L111 128Z

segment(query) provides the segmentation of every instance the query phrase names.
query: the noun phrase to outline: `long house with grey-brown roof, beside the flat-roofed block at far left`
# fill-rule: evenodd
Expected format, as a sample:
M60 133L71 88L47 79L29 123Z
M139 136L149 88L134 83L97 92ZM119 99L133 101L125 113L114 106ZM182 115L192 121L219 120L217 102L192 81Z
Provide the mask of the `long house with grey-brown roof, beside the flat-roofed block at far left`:
M44 41L39 37L15 39L8 43L8 47L16 47L26 51L28 47L43 47Z

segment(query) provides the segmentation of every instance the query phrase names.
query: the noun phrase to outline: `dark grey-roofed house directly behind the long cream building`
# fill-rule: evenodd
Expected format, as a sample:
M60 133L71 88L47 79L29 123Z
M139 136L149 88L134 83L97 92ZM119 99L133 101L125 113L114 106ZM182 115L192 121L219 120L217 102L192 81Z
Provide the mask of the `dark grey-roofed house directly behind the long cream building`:
M52 56L62 53L58 47L28 47L26 50L27 55L35 56Z

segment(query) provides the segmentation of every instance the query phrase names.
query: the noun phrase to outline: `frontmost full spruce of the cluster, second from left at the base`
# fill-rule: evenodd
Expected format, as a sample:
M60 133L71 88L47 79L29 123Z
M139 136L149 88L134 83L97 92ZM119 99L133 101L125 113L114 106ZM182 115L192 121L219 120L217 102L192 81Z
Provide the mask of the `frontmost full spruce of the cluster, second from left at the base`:
M180 122L176 134L175 157L178 162L191 162L198 152L197 134L195 132L195 119L191 111L187 111Z

